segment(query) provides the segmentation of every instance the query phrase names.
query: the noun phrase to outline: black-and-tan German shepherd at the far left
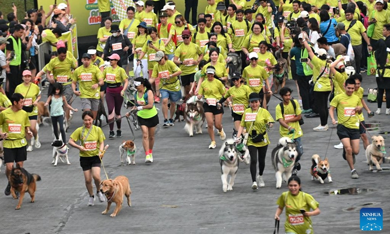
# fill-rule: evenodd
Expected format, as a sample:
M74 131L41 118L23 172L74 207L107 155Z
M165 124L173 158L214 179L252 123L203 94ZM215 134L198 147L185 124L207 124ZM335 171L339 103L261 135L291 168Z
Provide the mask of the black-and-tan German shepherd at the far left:
M15 191L20 193L19 203L15 210L20 210L21 203L23 202L24 193L28 192L31 196L31 202L34 202L35 191L37 189L36 181L40 181L40 176L37 174L30 174L22 167L13 167L8 180L11 184L11 195L14 199L16 197Z

